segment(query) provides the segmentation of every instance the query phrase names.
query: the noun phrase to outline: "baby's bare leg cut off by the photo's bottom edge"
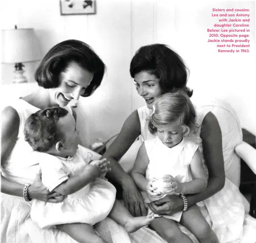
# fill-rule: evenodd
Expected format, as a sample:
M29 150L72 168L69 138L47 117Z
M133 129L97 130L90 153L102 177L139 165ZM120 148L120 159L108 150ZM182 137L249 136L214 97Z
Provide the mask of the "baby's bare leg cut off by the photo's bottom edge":
M79 243L108 243L98 236L96 231L88 224L64 224L56 225L56 227L59 230L66 232Z

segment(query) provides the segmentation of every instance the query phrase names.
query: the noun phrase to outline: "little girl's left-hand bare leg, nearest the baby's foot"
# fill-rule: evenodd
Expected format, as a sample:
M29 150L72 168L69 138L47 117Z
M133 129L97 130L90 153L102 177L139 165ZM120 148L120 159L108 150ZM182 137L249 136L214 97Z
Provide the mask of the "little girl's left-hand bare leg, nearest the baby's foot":
M193 241L180 230L177 223L172 219L157 217L151 222L150 227L168 243L193 243Z

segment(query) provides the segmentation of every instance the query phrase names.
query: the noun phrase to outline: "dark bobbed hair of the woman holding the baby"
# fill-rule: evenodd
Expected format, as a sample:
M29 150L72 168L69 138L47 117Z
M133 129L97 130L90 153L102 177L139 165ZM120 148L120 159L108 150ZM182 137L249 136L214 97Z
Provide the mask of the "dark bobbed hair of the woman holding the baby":
M92 82L81 95L90 96L103 79L105 64L87 43L80 40L65 40L51 48L41 60L35 80L45 89L58 87L59 74L65 72L71 62L94 74Z

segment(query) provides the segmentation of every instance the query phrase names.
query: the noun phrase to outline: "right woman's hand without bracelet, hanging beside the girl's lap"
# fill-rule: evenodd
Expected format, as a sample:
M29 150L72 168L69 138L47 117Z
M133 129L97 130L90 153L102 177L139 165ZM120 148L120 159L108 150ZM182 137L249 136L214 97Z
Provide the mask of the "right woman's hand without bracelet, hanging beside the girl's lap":
M143 197L132 179L122 183L124 206L133 216L146 216L147 209Z

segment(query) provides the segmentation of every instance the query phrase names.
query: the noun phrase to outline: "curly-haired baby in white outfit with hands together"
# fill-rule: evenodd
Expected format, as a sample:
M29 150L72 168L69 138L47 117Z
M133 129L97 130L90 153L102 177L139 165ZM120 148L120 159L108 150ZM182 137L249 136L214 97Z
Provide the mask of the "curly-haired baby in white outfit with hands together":
M78 242L105 242L92 226L108 215L127 232L134 232L154 219L133 217L115 200L115 187L103 179L111 170L108 161L84 161L79 156L76 123L66 109L53 107L32 114L26 120L24 135L35 150L42 183L49 191L67 195L56 204L33 201L31 219L41 228L57 227Z

